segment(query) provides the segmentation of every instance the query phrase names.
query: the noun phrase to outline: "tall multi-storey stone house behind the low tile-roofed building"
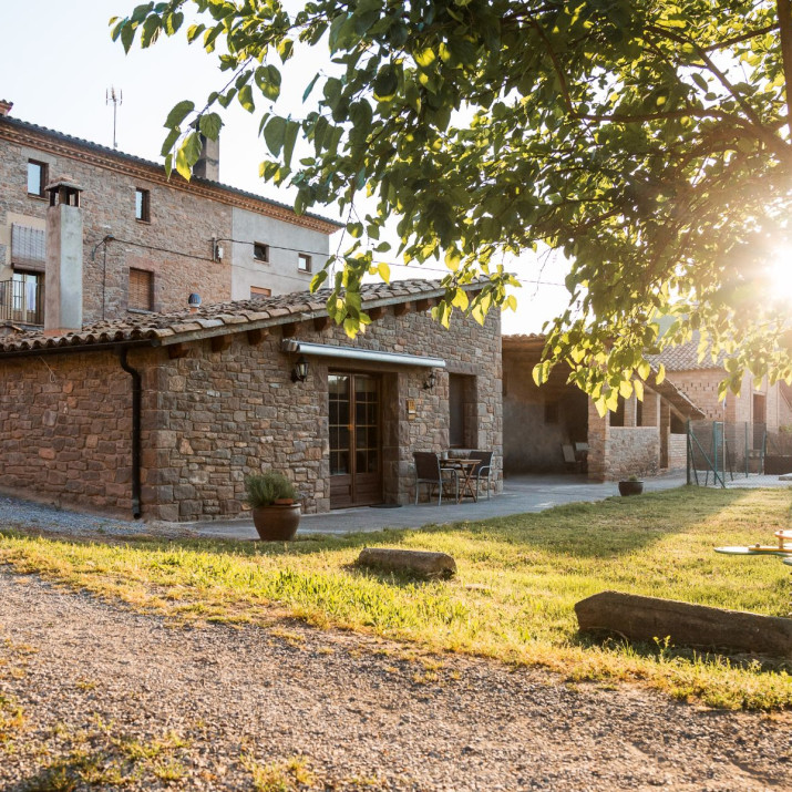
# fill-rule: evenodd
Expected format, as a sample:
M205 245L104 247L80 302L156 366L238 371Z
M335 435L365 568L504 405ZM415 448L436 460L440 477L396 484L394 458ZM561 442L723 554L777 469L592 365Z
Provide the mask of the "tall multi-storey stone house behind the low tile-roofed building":
M318 267L327 259L339 224L219 184L216 156L196 166L203 177L168 178L157 163L25 123L10 109L0 102L2 326L43 323L45 186L64 175L82 188L85 323L181 310L191 294L218 304L302 290L310 275L300 251ZM254 256L270 245L270 261Z

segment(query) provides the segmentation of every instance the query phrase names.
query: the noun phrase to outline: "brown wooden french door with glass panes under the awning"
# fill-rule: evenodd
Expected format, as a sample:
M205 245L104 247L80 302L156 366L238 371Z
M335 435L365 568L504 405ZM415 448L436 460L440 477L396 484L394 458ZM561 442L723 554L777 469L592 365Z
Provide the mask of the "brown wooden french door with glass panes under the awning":
M382 502L380 380L331 373L330 507Z

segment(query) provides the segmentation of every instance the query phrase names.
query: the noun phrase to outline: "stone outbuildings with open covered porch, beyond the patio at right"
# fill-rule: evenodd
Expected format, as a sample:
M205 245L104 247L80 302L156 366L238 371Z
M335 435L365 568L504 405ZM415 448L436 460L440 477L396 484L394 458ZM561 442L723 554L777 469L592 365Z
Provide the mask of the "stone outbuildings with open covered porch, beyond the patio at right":
M539 362L544 342L541 335L503 339L506 475L564 471L564 444L587 449L586 467L595 481L683 470L688 421L744 424L751 450L761 445L759 429L762 436L765 430L770 436L792 424L789 389L769 385L767 380L755 389L745 377L739 397L729 394L726 403L718 401L718 383L726 372L718 362L699 362L697 341L654 360L665 366L666 379L658 384L652 376L645 383L642 402L632 395L621 400L616 412L600 418L585 393L566 384L569 372L565 367L556 367L542 388L534 383L532 369Z

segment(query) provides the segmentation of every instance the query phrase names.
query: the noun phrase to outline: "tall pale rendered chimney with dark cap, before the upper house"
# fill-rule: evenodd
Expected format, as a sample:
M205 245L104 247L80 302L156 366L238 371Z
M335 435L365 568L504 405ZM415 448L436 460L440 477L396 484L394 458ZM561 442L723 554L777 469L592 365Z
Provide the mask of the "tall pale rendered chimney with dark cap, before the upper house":
M45 191L44 332L62 335L82 330L82 187L71 176L61 176Z

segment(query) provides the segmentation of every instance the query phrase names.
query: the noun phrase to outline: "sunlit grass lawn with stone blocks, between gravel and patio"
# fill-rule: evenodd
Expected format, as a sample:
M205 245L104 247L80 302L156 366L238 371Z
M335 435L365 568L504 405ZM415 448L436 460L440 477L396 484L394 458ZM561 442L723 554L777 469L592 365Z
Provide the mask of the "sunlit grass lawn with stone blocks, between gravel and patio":
M790 568L775 557L716 554L768 543L790 525L789 490L682 487L481 523L289 545L122 545L0 534L0 563L181 618L269 624L278 614L539 665L570 681L639 680L714 707L792 708L792 662L592 641L574 604L603 589L785 616ZM450 553L459 575L422 583L353 566L363 546Z

